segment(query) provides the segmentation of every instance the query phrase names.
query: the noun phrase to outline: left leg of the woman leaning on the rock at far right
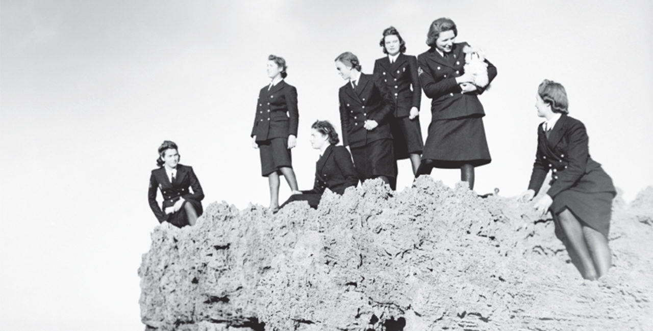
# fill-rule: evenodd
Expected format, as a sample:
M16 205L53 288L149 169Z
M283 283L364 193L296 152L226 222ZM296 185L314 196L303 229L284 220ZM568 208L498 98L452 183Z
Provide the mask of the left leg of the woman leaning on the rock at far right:
M569 242L567 249L571 248L581 262L583 269L581 270L582 277L586 280L596 280L597 274L594 268L594 261L592 261L590 251L585 244L581 222L576 219L576 216L569 209L562 210L558 214L558 219L560 220L560 227L562 227L562 231Z

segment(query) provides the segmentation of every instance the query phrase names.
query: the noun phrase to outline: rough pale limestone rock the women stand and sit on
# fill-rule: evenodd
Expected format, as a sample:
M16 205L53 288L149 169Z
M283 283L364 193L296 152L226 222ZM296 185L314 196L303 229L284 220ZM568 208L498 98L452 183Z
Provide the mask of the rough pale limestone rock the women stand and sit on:
M543 190L544 191L544 190ZM625 205L625 204L622 204ZM611 225L614 266L584 281L532 203L421 177L368 180L317 210L212 203L157 227L146 330L641 330L653 325L653 188Z

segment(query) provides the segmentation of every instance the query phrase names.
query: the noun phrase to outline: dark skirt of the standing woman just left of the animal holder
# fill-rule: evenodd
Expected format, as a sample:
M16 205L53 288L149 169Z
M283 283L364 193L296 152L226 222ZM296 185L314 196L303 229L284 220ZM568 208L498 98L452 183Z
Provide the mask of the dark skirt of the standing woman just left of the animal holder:
M390 120L390 131L394 141L395 160L403 160L410 154L422 154L424 141L419 117L412 120L408 117L393 117Z

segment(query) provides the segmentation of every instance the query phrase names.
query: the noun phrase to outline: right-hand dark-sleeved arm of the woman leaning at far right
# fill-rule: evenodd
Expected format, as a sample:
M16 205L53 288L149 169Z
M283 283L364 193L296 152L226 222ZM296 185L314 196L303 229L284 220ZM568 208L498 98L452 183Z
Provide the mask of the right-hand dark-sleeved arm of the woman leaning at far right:
M558 171L558 179L553 182L551 188L547 191L547 194L551 197L555 197L560 192L571 188L573 184L581 179L582 175L585 174L587 159L590 154L588 147L589 138L582 122L573 122L565 131L565 135L569 141L569 149L567 150L569 164L564 171Z

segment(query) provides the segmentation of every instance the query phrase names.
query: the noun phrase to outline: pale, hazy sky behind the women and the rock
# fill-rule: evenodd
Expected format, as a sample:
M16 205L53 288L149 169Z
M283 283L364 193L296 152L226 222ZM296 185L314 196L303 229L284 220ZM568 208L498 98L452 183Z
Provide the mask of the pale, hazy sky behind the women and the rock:
M492 163L476 190L517 195L535 155L535 93L564 84L592 157L629 201L653 184L650 1L1 1L0 328L142 330L136 270L157 225L146 190L164 139L206 198L268 205L249 133L272 53L298 89L293 166L312 187L315 119L338 128L333 63L371 73L394 25L417 55L432 20L498 68L481 96ZM422 134L430 100L422 95ZM399 187L411 183L400 163ZM434 170L453 185L460 171ZM281 202L289 194L282 181Z

